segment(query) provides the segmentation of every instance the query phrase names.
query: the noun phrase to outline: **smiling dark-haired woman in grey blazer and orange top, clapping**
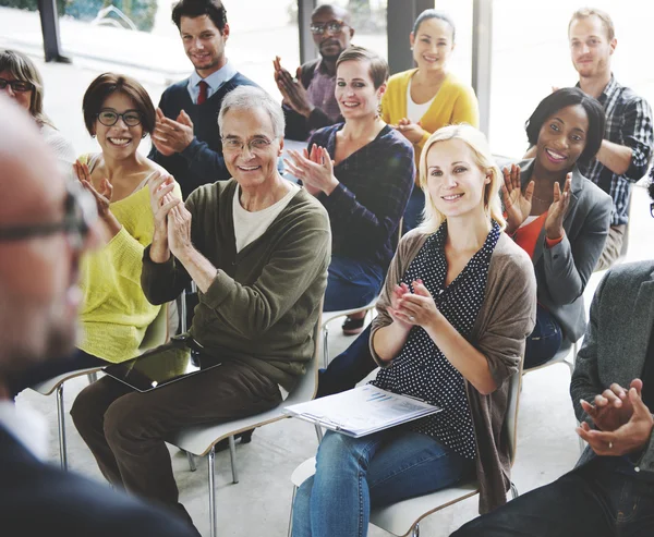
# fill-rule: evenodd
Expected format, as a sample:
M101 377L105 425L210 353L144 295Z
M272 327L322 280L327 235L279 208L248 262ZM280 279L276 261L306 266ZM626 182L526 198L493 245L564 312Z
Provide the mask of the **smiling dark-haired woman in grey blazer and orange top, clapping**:
M613 202L577 162L595 157L604 122L600 102L581 89L554 91L526 122L535 158L504 169L506 232L531 256L538 283L525 369L585 330L583 291L604 248Z

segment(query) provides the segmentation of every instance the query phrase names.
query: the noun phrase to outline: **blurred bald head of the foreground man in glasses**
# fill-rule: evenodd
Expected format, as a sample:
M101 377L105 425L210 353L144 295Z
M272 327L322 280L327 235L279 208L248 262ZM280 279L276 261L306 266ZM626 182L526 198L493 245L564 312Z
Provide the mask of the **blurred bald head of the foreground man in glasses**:
M66 190L32 118L0 95L0 228L38 229L64 219ZM62 231L0 237L0 399L9 379L75 341L80 252Z

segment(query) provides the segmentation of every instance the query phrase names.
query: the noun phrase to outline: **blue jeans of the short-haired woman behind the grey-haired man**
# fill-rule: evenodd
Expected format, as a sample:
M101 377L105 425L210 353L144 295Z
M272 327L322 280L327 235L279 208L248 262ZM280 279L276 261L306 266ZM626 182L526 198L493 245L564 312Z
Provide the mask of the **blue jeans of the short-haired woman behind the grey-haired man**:
M352 309L368 304L382 289L384 271L378 265L331 256L324 312Z

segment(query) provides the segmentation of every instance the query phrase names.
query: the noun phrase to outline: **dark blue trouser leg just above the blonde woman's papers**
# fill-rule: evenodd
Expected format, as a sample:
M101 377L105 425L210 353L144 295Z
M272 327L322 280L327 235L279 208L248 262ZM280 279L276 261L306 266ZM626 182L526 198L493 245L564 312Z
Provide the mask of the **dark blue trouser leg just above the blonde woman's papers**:
M350 390L377 367L371 354L371 329L372 325L368 325L348 349L329 363L327 369L320 369L316 398Z

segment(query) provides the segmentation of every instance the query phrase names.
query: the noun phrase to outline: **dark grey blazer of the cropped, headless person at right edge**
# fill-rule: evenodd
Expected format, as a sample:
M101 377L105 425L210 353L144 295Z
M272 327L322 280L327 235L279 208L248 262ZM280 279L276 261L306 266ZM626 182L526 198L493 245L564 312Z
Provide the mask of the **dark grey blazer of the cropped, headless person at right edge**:
M595 291L591 321L570 382L577 419L593 426L580 399L593 401L613 382L628 388L634 378L642 378L653 326L654 261L618 265L609 270ZM578 465L595 456L586 447ZM654 432L638 465L654 476Z

